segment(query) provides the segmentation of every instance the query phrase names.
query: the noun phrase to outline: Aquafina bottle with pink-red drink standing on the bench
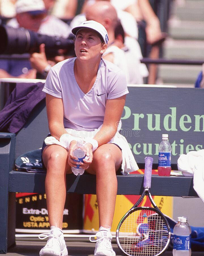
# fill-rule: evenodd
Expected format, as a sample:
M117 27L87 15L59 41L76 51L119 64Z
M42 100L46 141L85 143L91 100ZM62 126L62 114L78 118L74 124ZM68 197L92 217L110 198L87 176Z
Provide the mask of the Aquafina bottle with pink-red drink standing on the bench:
M159 176L170 176L171 173L171 144L168 134L162 134L162 142L159 144Z

